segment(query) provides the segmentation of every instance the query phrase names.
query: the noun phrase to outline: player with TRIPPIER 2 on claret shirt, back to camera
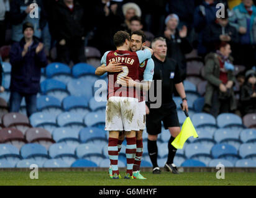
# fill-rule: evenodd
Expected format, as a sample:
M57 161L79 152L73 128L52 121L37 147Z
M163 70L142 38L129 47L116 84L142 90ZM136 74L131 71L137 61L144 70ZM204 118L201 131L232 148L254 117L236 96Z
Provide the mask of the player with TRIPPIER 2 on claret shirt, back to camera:
M119 71L107 71L107 105L106 105L106 126L109 131L108 153L112 167L111 178L121 178L118 170L118 138L119 132L124 131L126 135L127 147L127 179L133 179L132 168L136 153L135 131L139 131L137 123L139 117L138 96L136 88L126 88L119 84L122 77L129 77L132 80L139 78L139 66L146 59L152 56L152 49L144 49L137 52L130 50L130 35L124 31L118 31L114 35L114 44L117 50L107 51L101 59L101 64L106 67L98 67L95 74L102 75L107 71L107 65L116 62L122 64Z

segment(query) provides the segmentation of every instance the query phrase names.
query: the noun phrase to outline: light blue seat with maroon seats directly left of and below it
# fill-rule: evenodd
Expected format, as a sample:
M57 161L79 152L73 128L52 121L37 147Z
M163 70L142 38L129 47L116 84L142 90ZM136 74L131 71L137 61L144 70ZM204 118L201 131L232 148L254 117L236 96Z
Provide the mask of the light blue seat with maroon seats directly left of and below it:
M52 133L53 129L58 127L54 114L37 112L33 113L29 119L33 127L42 127L50 133Z

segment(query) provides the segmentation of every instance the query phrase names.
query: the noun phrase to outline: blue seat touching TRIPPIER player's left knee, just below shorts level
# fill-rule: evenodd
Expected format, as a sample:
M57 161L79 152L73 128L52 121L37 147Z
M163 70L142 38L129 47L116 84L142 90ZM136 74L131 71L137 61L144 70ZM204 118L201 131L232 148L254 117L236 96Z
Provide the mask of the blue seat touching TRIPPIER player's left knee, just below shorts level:
M106 132L97 127L85 127L79 132L79 139L82 143L87 143L93 140L103 140L107 142Z

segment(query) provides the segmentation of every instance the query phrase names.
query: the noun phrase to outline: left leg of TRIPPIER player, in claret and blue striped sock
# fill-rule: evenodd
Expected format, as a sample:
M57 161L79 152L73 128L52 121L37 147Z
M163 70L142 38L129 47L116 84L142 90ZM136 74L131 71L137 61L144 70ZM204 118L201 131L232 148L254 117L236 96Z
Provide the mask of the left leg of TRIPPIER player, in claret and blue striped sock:
M108 144L108 153L109 153L109 160L112 168L112 177L113 179L119 179L120 174L118 170L118 137L119 131L109 131L109 144Z

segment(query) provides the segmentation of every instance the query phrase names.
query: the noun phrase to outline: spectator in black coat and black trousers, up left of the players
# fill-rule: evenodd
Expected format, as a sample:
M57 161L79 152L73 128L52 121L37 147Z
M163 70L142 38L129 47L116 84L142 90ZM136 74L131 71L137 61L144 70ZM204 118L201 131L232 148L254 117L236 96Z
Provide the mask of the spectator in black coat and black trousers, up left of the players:
M85 23L83 7L73 0L57 3L54 19L58 61L65 64L85 62Z

